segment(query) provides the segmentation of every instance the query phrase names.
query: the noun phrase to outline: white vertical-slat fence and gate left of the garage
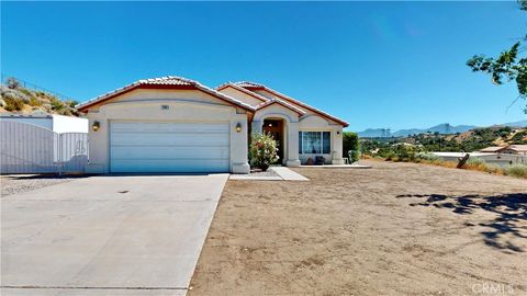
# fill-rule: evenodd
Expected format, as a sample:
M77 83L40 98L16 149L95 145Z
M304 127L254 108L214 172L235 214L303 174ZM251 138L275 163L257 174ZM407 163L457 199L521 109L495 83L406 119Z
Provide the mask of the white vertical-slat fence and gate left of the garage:
M88 134L0 121L0 173L83 173Z

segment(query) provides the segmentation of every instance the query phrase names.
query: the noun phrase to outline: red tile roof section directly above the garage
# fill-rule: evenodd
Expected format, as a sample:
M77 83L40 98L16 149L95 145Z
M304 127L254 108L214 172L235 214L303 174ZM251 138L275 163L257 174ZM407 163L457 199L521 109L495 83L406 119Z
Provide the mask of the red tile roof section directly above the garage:
M159 78L152 78L152 79L143 79L135 81L133 83L130 83L123 88L113 90L111 92L106 92L102 95L99 95L92 100L89 100L85 103L81 103L77 105L77 109L81 112L86 112L90 106L99 104L101 102L104 102L106 100L110 100L112 98L115 98L120 94L123 94L125 92L135 90L135 89L197 89L201 90L205 93L209 93L213 96L216 96L217 99L221 99L227 103L231 103L233 105L239 106L242 109L248 110L248 111L255 111L255 107L242 102L237 99L231 98L226 94L223 94L216 90L210 89L200 82L195 80L190 80L187 78L182 77L176 77L176 76L166 76L166 77L159 77Z

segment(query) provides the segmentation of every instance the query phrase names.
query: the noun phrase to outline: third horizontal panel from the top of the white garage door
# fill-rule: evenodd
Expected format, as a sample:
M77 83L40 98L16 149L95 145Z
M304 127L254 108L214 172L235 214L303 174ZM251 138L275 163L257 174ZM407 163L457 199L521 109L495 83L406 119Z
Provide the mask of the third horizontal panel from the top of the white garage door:
M195 151L199 151L198 153ZM112 147L112 159L224 159L228 161L228 146L224 147Z

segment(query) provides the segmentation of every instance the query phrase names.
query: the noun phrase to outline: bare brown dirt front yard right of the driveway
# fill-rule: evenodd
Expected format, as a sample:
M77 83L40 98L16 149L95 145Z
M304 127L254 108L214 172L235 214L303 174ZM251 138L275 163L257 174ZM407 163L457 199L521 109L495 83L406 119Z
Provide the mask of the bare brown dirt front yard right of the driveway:
M368 163L229 181L189 294L527 294L526 180Z

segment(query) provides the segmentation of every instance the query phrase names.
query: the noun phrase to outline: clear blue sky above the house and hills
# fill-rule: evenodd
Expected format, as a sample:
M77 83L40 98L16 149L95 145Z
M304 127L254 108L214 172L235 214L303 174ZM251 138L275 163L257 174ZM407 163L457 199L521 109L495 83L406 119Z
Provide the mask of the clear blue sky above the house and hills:
M167 75L251 80L367 127L490 125L515 86L464 62L525 36L516 2L1 2L1 71L78 101Z

